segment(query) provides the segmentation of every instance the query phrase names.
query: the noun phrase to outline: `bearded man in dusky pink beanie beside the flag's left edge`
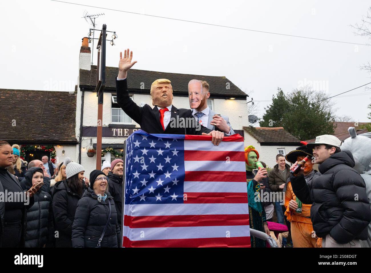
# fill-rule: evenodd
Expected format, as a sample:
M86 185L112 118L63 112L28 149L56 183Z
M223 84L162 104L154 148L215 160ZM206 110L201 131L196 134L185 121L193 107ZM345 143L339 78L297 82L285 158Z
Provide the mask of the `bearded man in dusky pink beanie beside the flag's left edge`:
M111 162L111 172L108 173L108 191L115 201L117 222L121 229L122 221L122 176L124 175L124 161L115 159Z

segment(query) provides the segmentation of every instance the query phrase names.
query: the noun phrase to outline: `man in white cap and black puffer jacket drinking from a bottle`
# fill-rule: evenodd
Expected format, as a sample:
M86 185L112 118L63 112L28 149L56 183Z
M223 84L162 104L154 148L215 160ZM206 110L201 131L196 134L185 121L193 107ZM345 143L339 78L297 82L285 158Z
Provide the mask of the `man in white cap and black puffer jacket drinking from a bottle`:
M304 204L312 204L313 229L322 238L322 247L361 247L359 240L367 239L371 221L370 204L365 182L352 169L352 154L341 151L340 145L331 135L318 136L315 143L307 144L314 147L319 172L306 183L301 168L296 176L290 175L291 185Z

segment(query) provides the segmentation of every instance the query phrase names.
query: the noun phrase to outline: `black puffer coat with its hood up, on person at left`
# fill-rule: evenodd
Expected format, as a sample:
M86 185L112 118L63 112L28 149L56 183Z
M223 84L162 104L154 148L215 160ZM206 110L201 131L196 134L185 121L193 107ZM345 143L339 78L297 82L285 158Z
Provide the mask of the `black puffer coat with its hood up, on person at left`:
M34 174L43 176L42 168L32 167L26 174L26 186L32 186ZM42 181L42 179L40 180ZM34 195L35 203L27 210L25 247L52 247L54 241L52 196L39 190Z

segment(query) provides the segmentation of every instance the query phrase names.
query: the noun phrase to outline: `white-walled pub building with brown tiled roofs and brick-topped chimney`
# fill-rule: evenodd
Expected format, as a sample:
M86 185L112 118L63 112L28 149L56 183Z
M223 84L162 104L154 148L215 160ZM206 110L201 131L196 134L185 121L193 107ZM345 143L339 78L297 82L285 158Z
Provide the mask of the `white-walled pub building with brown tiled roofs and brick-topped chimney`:
M109 52L108 50L106 54L110 54ZM89 175L96 166L94 151L98 116L96 69L96 65L91 65L88 38L83 38L75 91L1 89L0 105L4 111L0 113L2 128L0 139L10 144L29 145L25 151L26 161L41 159L43 155L50 158L52 153L53 155L55 153L56 163L70 157L84 166L86 175ZM128 117L117 104L115 83L117 75L117 67L106 66L101 121L102 162L105 160L111 162L115 158L122 159L124 140L140 129L139 124ZM210 109L228 116L233 130L243 136L243 127L249 126L247 95L229 79L130 69L128 88L132 100L139 106L148 104L153 107L150 99L151 84L159 78L170 79L174 94L173 105L187 109L190 108L188 82L191 79L207 81L210 85L210 98L207 100ZM12 126L13 119L16 120L16 126ZM30 145L36 148L32 149ZM42 149L44 146L45 149Z

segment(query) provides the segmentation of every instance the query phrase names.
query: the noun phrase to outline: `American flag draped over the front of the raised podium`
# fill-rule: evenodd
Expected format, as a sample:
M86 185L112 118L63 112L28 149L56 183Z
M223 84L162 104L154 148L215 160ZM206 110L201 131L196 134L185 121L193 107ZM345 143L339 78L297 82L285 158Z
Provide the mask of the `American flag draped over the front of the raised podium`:
M250 247L243 137L126 140L123 247Z

